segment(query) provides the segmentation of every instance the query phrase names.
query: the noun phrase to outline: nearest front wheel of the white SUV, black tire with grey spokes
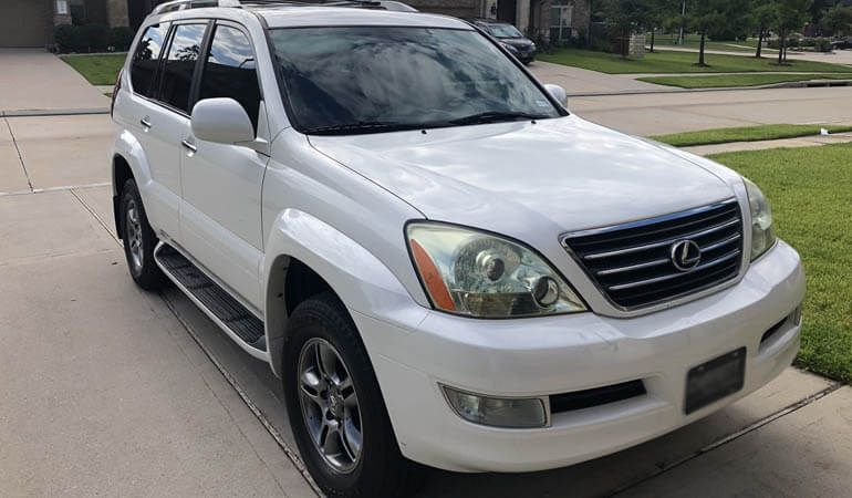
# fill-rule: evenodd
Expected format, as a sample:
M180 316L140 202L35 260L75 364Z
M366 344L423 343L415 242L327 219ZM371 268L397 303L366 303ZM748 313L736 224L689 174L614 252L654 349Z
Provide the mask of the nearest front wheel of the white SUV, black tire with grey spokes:
M399 453L364 345L331 292L297 307L288 324L287 411L308 470L328 496L399 497L424 468Z

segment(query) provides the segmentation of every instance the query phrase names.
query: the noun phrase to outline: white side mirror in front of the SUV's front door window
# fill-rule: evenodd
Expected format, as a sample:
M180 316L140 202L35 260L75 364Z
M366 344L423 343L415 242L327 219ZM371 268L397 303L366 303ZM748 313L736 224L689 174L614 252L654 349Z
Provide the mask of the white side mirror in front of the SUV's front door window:
M246 110L233 98L205 98L193 107L193 135L207 142L250 145L254 127Z

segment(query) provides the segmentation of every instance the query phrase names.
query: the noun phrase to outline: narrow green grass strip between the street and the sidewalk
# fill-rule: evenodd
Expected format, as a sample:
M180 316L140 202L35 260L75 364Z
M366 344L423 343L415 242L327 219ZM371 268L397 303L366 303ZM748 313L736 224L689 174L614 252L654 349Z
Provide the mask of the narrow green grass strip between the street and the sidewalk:
M757 142L772 141L777 138L792 138L797 136L819 135L820 129L825 128L829 133L841 133L852 131L852 126L844 125L788 125L775 124L762 126L744 126L737 128L715 128L702 132L675 133L672 135L656 135L648 138L675 147L687 147L690 145L726 144L729 142Z

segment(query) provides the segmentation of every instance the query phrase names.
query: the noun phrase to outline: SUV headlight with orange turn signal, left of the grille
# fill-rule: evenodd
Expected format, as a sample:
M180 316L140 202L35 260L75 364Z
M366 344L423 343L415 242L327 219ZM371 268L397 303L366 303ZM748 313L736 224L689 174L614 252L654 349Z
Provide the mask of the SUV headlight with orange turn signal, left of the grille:
M564 279L532 250L441 224L406 229L415 268L435 308L478 318L584 311Z

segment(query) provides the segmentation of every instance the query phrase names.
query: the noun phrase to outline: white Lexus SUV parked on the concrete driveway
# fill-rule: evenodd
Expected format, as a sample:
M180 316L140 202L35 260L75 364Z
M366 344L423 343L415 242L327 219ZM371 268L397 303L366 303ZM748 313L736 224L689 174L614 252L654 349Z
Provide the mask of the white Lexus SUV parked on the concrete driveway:
M464 21L166 3L114 98L131 274L269 363L330 495L612 453L799 347L804 274L758 187L572 115Z

